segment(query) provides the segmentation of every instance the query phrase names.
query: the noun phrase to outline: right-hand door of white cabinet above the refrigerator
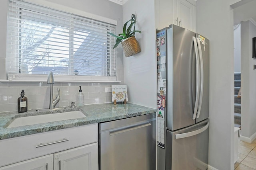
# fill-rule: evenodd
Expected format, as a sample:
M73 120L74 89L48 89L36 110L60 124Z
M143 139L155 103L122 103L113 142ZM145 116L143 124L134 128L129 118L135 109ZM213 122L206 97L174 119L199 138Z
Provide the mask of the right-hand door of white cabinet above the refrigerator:
M180 27L196 31L196 7L186 0L177 0L177 17Z

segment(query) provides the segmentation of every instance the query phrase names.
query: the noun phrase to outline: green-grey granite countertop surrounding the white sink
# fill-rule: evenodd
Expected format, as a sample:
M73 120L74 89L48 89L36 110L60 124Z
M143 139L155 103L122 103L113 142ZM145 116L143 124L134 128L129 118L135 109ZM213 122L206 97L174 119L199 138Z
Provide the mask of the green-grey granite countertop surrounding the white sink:
M40 123L36 125L26 125L20 127L6 128L16 117L24 117L30 115L41 115L46 113L60 113L66 111L82 111L86 117L78 119L69 119L62 121L54 121L48 123ZM31 135L35 133L42 133L47 131L54 131L58 129L66 129L70 127L77 127L81 125L88 125L92 123L101 123L106 121L113 121L118 119L124 119L128 117L134 117L138 115L146 115L149 113L155 113L156 109L149 107L139 106L136 104L122 104L113 103L106 104L92 104L85 105L84 107L69 108L63 107L55 111L36 111L30 110L26 113L18 113L17 111L2 112L0 113L0 140L8 139L12 137L20 137L24 135Z

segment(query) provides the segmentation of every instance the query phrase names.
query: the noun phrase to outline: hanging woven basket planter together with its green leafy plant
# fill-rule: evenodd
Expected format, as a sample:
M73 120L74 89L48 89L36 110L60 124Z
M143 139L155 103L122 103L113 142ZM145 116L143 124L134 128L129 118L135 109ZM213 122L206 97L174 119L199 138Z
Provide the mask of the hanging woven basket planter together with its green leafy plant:
M130 25L128 23L130 22ZM141 33L135 29L136 18L135 15L132 14L132 19L124 23L123 33L114 35L113 33L108 32L108 34L116 37L116 44L113 48L116 48L120 43L122 44L125 57L130 57L134 54L140 53L140 44L135 38L135 33ZM127 27L128 26L128 27ZM133 27L133 29L132 29Z

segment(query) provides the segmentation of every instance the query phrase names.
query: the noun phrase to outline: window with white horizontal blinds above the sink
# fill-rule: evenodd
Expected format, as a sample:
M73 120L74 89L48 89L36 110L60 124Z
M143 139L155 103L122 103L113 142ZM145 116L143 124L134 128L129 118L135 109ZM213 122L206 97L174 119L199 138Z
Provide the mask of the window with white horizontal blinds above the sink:
M8 74L116 76L113 24L10 0L7 27Z

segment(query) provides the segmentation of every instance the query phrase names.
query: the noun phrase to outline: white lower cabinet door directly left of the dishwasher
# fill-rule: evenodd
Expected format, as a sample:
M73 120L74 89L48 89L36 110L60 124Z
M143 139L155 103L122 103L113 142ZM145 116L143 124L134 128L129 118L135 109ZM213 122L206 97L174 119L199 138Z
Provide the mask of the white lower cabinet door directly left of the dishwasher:
M98 143L53 154L54 170L98 170Z

